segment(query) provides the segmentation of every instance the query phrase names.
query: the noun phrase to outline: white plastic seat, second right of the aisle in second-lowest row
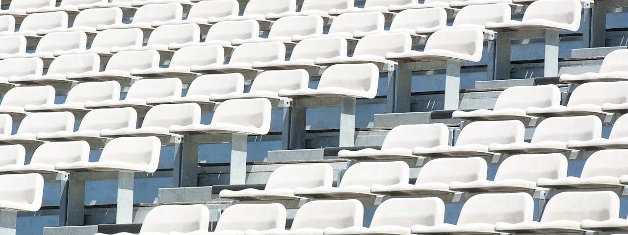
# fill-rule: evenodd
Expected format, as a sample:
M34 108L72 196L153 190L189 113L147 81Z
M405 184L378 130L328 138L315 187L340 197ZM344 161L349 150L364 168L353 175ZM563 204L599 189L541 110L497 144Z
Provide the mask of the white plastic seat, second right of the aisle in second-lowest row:
M371 193L371 187L403 184L408 179L409 167L405 162L358 162L342 175L338 187L297 187L295 195L310 199L374 197L377 194Z

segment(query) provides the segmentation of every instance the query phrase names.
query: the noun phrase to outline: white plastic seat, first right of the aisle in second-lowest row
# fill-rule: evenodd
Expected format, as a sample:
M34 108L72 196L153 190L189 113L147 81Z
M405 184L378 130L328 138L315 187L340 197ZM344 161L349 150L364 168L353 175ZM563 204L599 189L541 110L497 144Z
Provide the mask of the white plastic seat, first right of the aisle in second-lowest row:
M329 164L283 165L275 169L268 178L264 190L243 189L241 191L220 191L220 198L236 201L267 201L301 199L295 196L296 187L331 187L333 169Z

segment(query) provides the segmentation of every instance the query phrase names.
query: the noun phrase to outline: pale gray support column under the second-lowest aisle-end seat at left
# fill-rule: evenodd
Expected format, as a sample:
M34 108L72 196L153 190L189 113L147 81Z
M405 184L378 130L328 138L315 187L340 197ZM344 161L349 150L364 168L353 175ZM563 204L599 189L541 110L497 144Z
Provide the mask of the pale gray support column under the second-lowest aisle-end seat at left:
M133 180L135 173L130 170L118 172L116 202L116 224L133 223Z

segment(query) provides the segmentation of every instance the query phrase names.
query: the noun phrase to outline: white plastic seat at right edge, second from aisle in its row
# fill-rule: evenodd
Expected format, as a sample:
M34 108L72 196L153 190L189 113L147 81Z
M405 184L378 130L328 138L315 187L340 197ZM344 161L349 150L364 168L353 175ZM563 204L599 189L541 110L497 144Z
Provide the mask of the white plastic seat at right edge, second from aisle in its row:
M584 83L575 88L566 106L529 107L528 115L539 117L607 115L602 107L628 107L628 81Z

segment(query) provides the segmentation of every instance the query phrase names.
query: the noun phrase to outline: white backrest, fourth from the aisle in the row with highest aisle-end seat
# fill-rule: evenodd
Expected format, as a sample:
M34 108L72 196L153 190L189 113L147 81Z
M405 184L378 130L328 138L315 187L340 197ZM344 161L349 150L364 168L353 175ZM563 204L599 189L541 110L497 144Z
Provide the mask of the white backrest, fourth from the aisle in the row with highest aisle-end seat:
M382 13L344 13L333 18L329 33L368 32L378 29L384 29L384 14Z

